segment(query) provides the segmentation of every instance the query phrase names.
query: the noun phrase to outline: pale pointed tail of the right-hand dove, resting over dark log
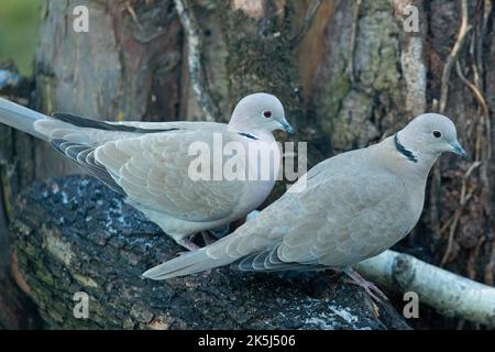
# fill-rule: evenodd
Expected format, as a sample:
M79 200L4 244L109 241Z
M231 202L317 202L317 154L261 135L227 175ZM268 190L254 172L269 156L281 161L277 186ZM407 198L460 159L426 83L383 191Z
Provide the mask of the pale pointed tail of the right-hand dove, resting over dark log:
M202 248L200 250L177 256L172 261L165 262L144 272L143 276L151 279L166 279L227 265L237 260L230 256L213 258L208 255L207 250L208 248Z

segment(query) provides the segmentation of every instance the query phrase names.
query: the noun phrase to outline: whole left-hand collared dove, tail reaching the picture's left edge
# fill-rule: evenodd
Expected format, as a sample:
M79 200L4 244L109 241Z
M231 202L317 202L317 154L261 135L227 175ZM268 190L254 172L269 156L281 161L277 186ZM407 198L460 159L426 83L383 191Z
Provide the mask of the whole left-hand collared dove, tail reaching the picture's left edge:
M229 142L245 150L256 150L276 146L274 130L293 133L280 101L261 92L243 98L229 124L117 123L64 113L51 118L4 99L0 99L0 122L48 141L65 156L124 195L128 202L187 249L197 248L189 240L191 234L228 224L258 207L273 189L280 162L278 147L273 147L273 157L267 161L270 165L261 166L271 170L267 178L193 179L188 174L191 163L198 157L210 162L210 155L190 153L191 144L202 143L211 147L213 154L221 153L215 148L221 150ZM213 145L216 139L221 140L219 146ZM226 158L232 158L221 157L223 163ZM250 163L260 166L257 157L233 157L246 162L246 169L253 166ZM215 167L218 165L211 163L211 169Z

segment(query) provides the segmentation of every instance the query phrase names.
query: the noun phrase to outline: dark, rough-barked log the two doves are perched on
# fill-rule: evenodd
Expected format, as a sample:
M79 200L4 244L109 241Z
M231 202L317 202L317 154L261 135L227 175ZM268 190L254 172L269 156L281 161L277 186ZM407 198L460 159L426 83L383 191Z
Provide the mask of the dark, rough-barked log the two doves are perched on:
M343 277L230 267L153 282L146 268L183 249L89 176L35 183L11 224L18 284L51 329L409 329ZM89 317L74 300L87 293ZM0 311L0 315L2 312Z

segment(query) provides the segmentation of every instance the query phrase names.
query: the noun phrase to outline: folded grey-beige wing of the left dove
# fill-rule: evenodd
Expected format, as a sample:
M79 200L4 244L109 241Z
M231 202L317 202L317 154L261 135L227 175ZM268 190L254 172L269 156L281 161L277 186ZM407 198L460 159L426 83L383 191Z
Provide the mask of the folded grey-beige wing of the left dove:
M194 160L212 167L207 155L189 154L194 142L211 145L211 133L173 131L112 141L96 150L103 165L132 202L188 221L215 221L230 215L244 191L241 180L194 180ZM209 155L209 154L208 154Z

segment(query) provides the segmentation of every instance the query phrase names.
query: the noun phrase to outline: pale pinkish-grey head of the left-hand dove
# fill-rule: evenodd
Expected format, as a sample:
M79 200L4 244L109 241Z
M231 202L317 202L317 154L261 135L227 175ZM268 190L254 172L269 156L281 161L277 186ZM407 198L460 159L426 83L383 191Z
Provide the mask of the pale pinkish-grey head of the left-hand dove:
M294 133L285 119L282 102L272 95L257 92L243 98L237 105L229 122L229 130L256 138L256 134L284 130Z

